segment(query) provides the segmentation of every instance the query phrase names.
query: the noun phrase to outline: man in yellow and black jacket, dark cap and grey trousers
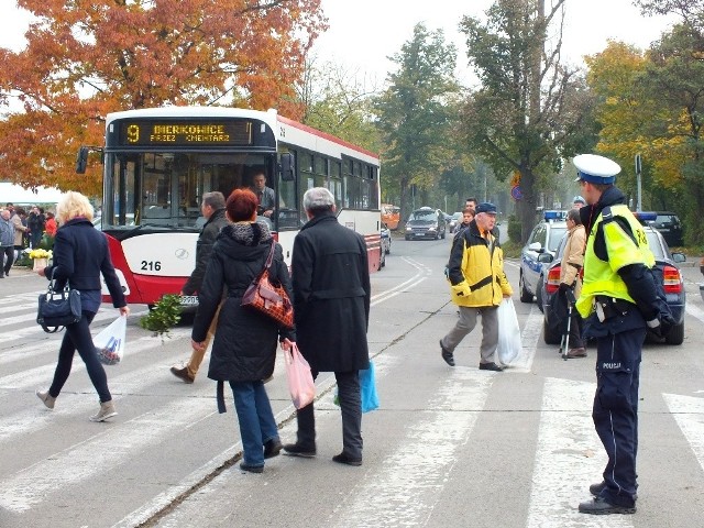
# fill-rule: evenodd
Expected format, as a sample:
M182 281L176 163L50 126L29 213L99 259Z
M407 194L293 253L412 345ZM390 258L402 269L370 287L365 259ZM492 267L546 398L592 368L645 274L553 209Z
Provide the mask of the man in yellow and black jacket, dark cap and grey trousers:
M497 308L513 289L504 273L504 252L492 234L496 226L496 206L483 202L476 206L470 226L452 242L448 279L452 301L459 306L460 319L440 340L442 359L454 366L454 349L474 330L476 318L482 316L482 345L480 369L501 372L496 364L498 345Z

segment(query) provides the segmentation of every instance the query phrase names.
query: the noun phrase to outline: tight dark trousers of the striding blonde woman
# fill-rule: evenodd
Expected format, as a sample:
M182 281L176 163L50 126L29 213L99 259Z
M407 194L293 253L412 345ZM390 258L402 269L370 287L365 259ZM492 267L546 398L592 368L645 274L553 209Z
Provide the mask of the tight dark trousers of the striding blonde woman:
M66 327L66 333L62 340L62 345L58 349L58 363L56 364L56 371L54 372L54 381L48 388L48 394L56 398L64 387L68 375L70 374L70 365L74 362L74 354L78 351L80 359L86 364L86 371L88 377L92 382L92 386L96 387L96 392L100 397L100 403L105 404L110 402L112 396L108 389L108 376L106 370L102 367L102 363L98 359L96 353L96 346L92 344L92 338L90 336L90 322L96 317L95 311L82 310L82 317L80 321Z

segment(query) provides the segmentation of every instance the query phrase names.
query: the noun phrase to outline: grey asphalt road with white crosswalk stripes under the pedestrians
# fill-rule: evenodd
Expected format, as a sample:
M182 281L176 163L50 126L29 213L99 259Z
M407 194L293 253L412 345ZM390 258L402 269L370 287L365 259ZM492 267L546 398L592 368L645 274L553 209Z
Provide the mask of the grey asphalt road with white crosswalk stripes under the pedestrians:
M381 408L364 415L364 464L340 466L334 378L318 378L318 457L278 457L240 472L237 415L218 415L207 360L185 385L168 367L189 355L184 324L162 342L139 326L106 367L119 416L88 420L97 395L79 359L50 411L61 336L34 323L45 279L0 280L0 527L698 527L704 526L704 304L698 267L683 268L685 341L647 344L640 392L638 513L576 513L605 455L591 421L594 354L563 361L542 341L536 305L514 301L522 354L503 373L479 371L477 331L440 358L453 326L442 274L450 241L394 239L373 275L369 340ZM518 262L506 271L514 289ZM103 305L94 332L117 310ZM266 385L284 442L295 439L284 365ZM292 421L293 420L293 421Z

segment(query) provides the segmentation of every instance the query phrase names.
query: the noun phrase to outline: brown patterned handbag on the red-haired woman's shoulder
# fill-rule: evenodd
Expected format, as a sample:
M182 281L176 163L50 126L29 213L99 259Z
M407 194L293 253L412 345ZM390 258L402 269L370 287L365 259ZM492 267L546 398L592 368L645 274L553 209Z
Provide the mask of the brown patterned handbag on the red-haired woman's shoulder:
M264 270L254 277L252 284L242 296L241 306L249 306L276 320L286 328L294 328L294 307L280 283L270 279L270 268L274 260L276 241L272 239L272 249L268 252Z

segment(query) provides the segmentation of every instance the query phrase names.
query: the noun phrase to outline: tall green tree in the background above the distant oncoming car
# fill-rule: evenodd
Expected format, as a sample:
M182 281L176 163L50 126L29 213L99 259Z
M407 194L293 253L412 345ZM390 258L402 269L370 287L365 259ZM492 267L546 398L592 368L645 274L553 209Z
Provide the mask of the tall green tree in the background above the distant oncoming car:
M385 144L382 185L397 193L402 218L407 218L410 185L427 198L454 156L449 136L455 130L451 103L459 92L457 51L442 31L417 24L413 38L392 59L398 70L389 75L389 87L375 103Z

